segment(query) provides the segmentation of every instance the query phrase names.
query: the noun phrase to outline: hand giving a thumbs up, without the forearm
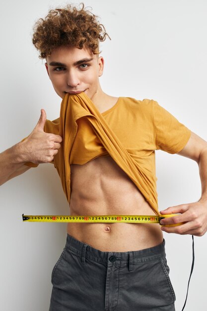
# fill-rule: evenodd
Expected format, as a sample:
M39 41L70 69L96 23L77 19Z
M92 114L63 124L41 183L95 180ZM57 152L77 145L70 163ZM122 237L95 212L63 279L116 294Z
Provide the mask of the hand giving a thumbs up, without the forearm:
M40 119L32 133L21 143L25 162L48 163L54 159L61 147L62 137L45 133L46 112L41 109Z

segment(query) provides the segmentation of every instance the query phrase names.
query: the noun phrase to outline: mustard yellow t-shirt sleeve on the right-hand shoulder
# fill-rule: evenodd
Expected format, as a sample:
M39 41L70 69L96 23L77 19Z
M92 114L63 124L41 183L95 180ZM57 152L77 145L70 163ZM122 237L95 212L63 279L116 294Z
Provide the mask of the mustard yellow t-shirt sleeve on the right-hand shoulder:
M169 154L180 152L191 136L191 131L156 101L154 101L154 125L157 150Z

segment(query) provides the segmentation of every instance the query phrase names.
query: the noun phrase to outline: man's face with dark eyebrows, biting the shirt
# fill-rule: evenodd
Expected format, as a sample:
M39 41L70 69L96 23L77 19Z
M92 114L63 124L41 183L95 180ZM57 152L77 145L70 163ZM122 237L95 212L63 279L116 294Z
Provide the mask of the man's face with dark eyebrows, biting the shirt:
M56 93L63 98L66 93L80 93L92 97L101 90L99 77L104 60L89 49L59 47L47 57L45 64Z

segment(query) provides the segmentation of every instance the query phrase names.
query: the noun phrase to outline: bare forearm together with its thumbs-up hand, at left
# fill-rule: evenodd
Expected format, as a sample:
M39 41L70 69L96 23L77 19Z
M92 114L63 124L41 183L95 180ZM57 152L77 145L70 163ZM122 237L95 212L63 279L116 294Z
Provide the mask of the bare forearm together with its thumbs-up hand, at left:
M26 162L48 163L57 155L62 138L44 132L46 112L41 109L40 119L32 133L23 141L0 154L0 185L30 167Z

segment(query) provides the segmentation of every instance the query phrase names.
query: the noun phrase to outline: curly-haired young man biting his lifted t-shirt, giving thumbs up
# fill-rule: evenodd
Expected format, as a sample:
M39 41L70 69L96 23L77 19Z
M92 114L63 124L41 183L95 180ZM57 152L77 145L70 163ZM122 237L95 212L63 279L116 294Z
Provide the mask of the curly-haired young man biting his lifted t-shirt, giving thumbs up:
M22 142L0 154L0 184L39 163L54 163L70 215L158 215L155 150L197 161L198 202L170 207L181 213L163 224L68 224L67 243L52 272L50 311L172 311L162 231L201 236L207 231L207 142L154 100L113 97L99 77L106 32L84 9L49 12L33 43L63 99L60 118L40 119Z

